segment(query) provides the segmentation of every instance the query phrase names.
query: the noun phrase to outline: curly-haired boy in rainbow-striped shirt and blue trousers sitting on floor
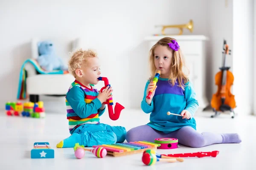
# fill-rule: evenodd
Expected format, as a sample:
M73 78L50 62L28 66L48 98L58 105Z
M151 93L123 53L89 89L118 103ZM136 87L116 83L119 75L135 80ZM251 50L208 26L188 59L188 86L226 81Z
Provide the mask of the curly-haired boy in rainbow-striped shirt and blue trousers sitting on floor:
M112 87L101 93L90 84L98 84L100 65L97 54L92 51L76 51L69 60L69 72L75 77L66 95L67 119L71 136L57 147L74 147L76 143L85 147L124 142L126 130L121 126L110 126L99 122L105 111L105 102L111 98Z

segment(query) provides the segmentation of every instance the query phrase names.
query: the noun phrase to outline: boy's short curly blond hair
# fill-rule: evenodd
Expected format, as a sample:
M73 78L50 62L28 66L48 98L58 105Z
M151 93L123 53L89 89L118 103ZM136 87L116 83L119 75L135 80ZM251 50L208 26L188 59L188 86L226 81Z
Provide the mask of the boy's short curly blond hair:
M75 51L68 61L68 71L76 78L76 69L81 69L88 57L97 57L95 51L88 49L86 51L79 49Z

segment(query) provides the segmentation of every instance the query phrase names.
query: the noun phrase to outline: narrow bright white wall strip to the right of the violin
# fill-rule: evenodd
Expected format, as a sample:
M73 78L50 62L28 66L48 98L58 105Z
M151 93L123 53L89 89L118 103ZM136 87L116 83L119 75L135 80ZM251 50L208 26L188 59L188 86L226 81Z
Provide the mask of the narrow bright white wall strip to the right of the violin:
M253 112L253 0L233 2L233 93L237 112Z

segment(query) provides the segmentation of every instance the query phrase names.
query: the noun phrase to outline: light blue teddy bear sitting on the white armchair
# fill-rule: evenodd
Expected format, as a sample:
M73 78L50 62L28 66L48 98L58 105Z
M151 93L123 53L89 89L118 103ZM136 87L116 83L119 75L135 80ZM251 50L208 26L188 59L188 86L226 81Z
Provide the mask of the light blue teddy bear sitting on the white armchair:
M38 43L38 64L45 71L63 70L67 71L68 67L63 60L55 54L54 45L50 41L42 41Z

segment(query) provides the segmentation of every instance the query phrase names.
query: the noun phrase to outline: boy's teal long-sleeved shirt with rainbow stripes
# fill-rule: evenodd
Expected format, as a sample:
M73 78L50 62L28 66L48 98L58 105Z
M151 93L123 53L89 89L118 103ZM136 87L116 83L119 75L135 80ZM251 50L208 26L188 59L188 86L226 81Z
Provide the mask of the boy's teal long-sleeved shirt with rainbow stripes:
M102 103L97 98L98 94L97 89L84 88L76 82L71 84L66 95L67 119L71 134L83 124L99 124L99 108Z

